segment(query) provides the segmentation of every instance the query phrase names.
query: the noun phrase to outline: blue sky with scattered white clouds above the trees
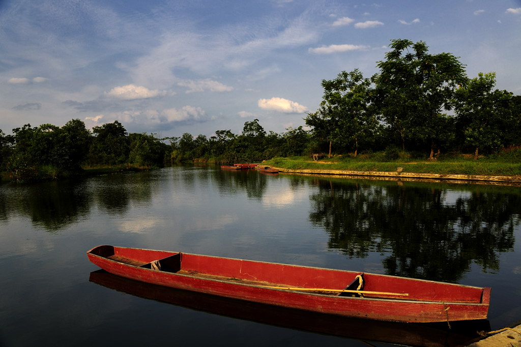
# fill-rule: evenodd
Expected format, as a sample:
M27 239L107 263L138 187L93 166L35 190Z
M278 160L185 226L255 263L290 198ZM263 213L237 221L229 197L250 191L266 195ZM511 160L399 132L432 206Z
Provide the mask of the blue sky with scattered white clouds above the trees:
M390 41L451 53L521 94L521 0L0 0L0 129L118 120L131 133L305 127L322 80Z

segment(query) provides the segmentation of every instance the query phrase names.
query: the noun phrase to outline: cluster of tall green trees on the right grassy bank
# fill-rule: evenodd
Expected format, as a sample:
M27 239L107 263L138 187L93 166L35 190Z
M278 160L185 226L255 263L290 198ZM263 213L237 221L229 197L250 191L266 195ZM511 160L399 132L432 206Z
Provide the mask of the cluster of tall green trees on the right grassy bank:
M495 73L469 79L457 57L420 41L392 40L379 72L322 80L320 108L305 118L322 152L420 150L493 153L521 145L521 96L494 90ZM329 146L329 148L328 148Z

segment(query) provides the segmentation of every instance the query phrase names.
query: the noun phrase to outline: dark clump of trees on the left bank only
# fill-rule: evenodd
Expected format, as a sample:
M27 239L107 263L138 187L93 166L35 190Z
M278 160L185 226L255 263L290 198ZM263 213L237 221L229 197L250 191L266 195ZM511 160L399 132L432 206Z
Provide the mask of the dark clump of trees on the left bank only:
M160 166L169 146L153 134L128 134L120 122L94 127L79 119L63 127L26 124L13 135L0 130L0 170L16 181L75 176L84 166Z

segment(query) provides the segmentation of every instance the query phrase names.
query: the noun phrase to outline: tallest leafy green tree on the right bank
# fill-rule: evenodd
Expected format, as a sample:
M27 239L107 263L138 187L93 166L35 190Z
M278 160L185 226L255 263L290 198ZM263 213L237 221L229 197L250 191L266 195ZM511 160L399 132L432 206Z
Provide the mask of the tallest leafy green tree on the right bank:
M381 120L399 134L402 148L410 139L430 145L430 157L448 122L458 86L466 85L465 65L450 53L429 54L425 42L391 40L386 60L373 77L374 103ZM440 129L441 127L441 129Z

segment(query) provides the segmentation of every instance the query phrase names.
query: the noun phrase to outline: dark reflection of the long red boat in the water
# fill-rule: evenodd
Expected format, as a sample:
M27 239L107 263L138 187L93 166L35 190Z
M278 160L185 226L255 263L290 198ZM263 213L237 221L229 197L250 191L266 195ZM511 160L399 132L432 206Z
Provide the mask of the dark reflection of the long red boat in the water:
M173 289L123 278L105 270L93 271L89 280L140 298L188 307L208 313L332 336L408 346L465 346L489 331L488 320L445 323L398 323L320 314L300 309L258 304L210 294Z

